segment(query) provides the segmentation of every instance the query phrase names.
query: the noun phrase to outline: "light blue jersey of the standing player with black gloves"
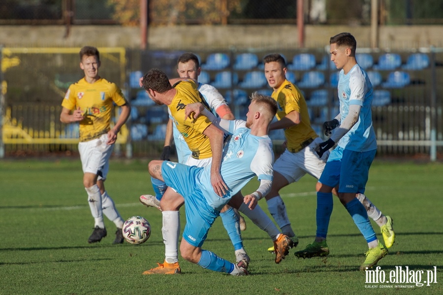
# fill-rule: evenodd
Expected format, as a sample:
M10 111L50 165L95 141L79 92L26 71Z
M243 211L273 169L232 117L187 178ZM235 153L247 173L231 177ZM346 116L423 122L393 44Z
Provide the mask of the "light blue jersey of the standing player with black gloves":
M349 105L360 105L357 123L338 142L338 146L356 152L377 149L377 140L372 125L371 104L373 88L366 72L357 64L345 75L340 71L338 84L341 120L349 113Z

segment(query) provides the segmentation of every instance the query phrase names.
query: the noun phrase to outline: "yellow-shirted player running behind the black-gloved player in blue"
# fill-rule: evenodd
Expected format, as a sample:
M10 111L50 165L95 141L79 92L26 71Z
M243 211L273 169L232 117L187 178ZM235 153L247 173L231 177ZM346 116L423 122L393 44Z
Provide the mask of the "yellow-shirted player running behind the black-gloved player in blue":
M263 64L268 84L274 90L272 98L277 101L278 105L277 119L279 121L272 123L270 130L284 129L286 138L285 151L274 164L274 181L270 193L266 196L266 201L269 212L282 232L292 237L294 245L297 245L298 237L291 228L285 203L279 191L288 184L298 181L307 173L317 179L320 178L329 151L326 151L321 158L315 151L323 140L311 127L305 98L300 90L286 79L285 59L280 54L270 54L263 58ZM381 214L365 195L357 194L356 197L363 203L368 215L379 224L381 231L389 232L389 239L393 243L394 231L391 224L387 224L390 217L386 218ZM273 247L270 247L268 251L272 252ZM306 257L300 252L302 251L296 252L295 255ZM329 253L329 249L327 252Z

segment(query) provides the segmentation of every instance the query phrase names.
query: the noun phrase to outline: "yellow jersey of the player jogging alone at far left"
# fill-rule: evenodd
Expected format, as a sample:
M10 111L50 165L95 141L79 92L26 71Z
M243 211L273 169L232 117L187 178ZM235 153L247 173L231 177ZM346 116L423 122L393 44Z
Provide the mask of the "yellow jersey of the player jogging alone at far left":
M127 102L115 83L100 78L91 84L82 78L69 86L62 106L70 110L80 107L85 119L80 121L79 140L88 141L110 130L113 102L119 106Z

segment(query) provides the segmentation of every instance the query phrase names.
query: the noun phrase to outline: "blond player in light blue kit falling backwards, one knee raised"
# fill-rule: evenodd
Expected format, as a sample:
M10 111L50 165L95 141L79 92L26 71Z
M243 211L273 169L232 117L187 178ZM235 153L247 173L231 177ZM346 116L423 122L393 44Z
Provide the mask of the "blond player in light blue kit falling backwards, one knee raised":
M274 153L268 130L276 111L277 104L274 99L258 94L253 94L246 122L215 118L201 103L187 105L187 116L194 112L195 118L201 112L214 125L232 134L222 154L221 176L227 186L222 197L215 194L211 186L210 166L188 166L169 161L150 162L151 176L165 181L168 187L185 198L187 223L180 245L184 259L204 268L231 275L248 274L246 261L231 263L213 252L202 250L201 246L208 230L220 215L221 208L255 175L258 176L260 185L256 191L244 197L244 203L253 209L257 201L269 192L273 177Z

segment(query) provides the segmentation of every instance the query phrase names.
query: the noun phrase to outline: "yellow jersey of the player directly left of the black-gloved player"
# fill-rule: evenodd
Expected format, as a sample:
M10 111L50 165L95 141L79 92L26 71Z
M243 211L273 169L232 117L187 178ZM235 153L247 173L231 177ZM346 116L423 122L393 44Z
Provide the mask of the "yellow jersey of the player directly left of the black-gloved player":
M311 127L306 100L297 86L285 80L271 96L277 101L277 119L281 120L291 111L300 113L300 123L285 129L286 146L290 152L300 151L307 142L318 137Z

